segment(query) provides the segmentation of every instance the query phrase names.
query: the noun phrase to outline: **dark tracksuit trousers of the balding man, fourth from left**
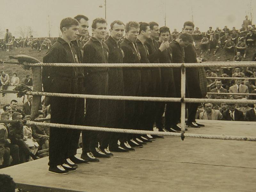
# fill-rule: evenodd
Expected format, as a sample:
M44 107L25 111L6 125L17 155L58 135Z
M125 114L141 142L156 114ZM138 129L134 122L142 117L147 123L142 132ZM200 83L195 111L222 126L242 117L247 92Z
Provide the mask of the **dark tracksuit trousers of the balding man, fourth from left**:
M123 96L124 95L124 78L122 68L110 68L108 71L108 95ZM124 100L103 100L107 102L107 120L105 127L108 128L124 128ZM100 147L102 149L115 148L118 140L124 142L126 139L124 133L106 132L105 138L101 140Z

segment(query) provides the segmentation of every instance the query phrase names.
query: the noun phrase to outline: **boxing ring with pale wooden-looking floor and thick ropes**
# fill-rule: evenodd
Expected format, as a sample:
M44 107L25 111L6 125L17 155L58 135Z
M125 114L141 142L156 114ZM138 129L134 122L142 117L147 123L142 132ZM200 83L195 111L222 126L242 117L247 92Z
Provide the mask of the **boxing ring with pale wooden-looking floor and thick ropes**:
M186 68L190 67L256 67L255 62L205 62L171 64L68 64L28 63L32 72L42 66L59 67L180 67L181 98L106 96L46 93L33 89L25 94L33 99L41 96L74 97L111 100L139 100L181 102L181 132L158 132L126 130L104 127L52 124L27 121L27 125L47 125L81 130L95 130L120 133L158 134L163 140L143 146L129 153L114 153L110 159L99 163L79 165L76 172L59 176L47 172L48 158L0 170L9 174L20 188L29 191L256 191L255 122L198 120L204 128L189 128L185 132L185 104L193 103L247 103L255 100L193 99L185 97ZM38 76L38 74L35 74ZM34 73L33 73L34 76ZM227 78L227 77L225 77ZM34 77L33 77L34 79ZM237 79L231 77L230 79ZM244 78L241 78L244 79ZM256 78L246 78L256 79ZM228 95L231 95L230 93ZM250 94L246 94L250 95ZM34 103L34 102L33 102ZM44 119L45 120L45 119ZM43 121L43 120L42 120ZM232 133L232 134L230 134ZM180 141L181 138L183 141ZM197 139L195 139L197 138ZM211 140L207 140L211 139ZM81 154L81 149L78 149ZM32 171L31 171L32 169ZM26 180L24 175L28 174Z

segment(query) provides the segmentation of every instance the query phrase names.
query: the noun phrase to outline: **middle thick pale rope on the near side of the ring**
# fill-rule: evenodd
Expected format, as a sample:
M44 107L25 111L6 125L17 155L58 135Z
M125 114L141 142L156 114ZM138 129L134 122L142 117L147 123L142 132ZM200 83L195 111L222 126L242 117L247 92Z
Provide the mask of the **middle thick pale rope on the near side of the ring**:
M87 99L107 99L107 100L133 100L133 101L160 101L160 102L180 102L181 98L167 97L137 97L137 96L114 96L114 95L85 95L69 93L48 93L48 92L26 92L27 95L41 95L49 97L70 97L70 98L87 98ZM229 99L194 99L183 98L185 103L248 103L254 104L256 100L229 100Z

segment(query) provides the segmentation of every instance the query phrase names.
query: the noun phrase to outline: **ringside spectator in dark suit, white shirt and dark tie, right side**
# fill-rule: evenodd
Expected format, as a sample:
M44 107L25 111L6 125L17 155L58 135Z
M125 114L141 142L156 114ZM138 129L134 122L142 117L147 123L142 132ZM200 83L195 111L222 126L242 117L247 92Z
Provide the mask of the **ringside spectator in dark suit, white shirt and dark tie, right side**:
M244 114L242 111L236 109L236 104L229 103L228 110L222 114L224 121L244 121Z

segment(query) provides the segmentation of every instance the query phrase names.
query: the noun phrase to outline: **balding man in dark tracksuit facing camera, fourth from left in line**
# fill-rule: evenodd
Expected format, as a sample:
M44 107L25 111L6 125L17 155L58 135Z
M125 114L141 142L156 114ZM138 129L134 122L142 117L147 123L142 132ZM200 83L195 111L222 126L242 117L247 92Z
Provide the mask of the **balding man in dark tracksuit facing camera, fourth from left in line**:
M108 63L123 63L124 52L121 49L120 39L124 34L124 23L122 21L114 21L110 25L110 36L105 41L108 45L109 55ZM124 95L123 70L121 67L109 68L108 71L108 95ZM123 128L125 118L124 100L108 100L107 107L107 123L109 128ZM118 145L120 142L127 141L124 133L108 132L107 137L100 143L100 149L109 155L110 151L129 152ZM109 145L109 150L108 150Z

